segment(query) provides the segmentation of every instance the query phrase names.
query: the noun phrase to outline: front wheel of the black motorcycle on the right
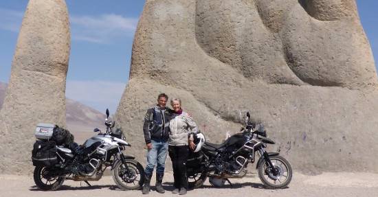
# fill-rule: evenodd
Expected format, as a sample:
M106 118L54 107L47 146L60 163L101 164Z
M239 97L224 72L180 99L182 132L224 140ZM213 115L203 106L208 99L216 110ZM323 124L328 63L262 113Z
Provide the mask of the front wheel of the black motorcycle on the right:
M291 170L289 161L279 155L269 157L269 159L278 173L274 174L273 170L267 167L265 161L259 162L260 165L258 165L257 168L258 177L261 182L270 189L282 189L287 187L293 176L293 170Z

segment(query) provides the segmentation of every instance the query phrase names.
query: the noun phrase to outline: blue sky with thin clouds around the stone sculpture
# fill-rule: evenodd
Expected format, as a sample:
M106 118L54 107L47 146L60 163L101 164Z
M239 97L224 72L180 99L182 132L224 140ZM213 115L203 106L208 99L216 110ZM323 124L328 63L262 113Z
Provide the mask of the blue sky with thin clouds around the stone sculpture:
M71 22L67 97L115 112L129 78L131 47L144 0L66 0ZM111 2L111 3L110 3ZM27 0L0 1L0 82L10 67ZM378 1L357 0L378 61Z

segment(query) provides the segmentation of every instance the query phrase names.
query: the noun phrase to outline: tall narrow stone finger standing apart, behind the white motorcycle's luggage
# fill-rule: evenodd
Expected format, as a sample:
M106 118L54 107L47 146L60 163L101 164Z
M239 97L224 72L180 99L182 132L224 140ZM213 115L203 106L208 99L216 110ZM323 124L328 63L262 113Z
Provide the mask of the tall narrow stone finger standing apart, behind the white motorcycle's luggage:
M0 173L31 172L39 122L65 126L65 81L70 49L64 0L30 0L0 113Z

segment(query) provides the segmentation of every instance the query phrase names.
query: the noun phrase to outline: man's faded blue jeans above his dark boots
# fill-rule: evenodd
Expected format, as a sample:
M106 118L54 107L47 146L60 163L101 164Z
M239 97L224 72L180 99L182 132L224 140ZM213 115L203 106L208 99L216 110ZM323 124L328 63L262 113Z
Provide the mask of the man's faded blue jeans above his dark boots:
M168 153L168 141L151 140L153 148L147 152L147 165L144 172L146 175L153 174L153 168L156 167L157 174L164 174L166 167L166 157Z

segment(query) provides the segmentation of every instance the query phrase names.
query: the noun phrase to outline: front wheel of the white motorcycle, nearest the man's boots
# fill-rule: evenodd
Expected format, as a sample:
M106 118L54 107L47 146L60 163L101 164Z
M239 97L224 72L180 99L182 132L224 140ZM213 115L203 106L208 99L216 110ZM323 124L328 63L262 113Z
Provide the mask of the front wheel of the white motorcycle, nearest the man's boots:
M129 170L126 170L126 165L122 161L115 164L113 169L115 184L122 190L140 189L144 184L143 166L133 159L126 159L125 163Z

